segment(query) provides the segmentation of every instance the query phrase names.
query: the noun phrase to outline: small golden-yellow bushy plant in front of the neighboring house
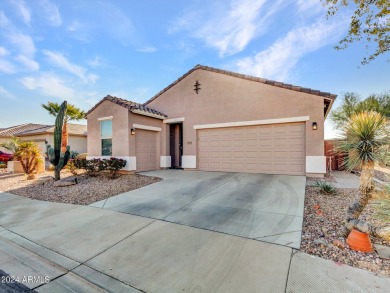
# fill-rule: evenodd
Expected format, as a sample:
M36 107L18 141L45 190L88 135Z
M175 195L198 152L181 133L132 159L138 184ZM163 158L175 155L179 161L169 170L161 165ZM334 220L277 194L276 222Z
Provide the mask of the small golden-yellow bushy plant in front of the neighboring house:
M23 171L27 174L27 179L34 179L33 172L39 163L40 149L32 141L22 141L14 153L14 159L20 161Z

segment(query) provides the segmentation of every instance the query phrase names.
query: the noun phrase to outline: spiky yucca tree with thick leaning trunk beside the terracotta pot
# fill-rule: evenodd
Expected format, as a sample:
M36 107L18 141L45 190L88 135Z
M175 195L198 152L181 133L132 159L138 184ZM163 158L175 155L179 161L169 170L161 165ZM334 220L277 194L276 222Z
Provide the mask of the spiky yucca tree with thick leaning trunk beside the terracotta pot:
M351 171L361 169L359 194L347 211L343 234L352 228L390 241L390 226L374 227L359 219L374 191L374 164L380 153L389 145L389 120L379 113L361 112L353 114L343 128L343 140L335 147L337 153L345 154L344 166Z

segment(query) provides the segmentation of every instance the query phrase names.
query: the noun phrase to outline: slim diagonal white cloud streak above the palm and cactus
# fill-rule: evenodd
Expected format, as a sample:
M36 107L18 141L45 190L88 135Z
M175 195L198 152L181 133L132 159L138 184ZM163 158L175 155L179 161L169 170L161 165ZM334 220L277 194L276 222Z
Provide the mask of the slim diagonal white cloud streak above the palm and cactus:
M90 73L87 73L87 70L79 65L76 65L76 64L73 64L71 63L63 54L61 53L58 53L58 52L52 52L52 51L49 51L49 50L43 50L43 53L48 57L49 61L78 76L81 80L83 80L84 82L92 82L94 83L97 79L98 79L98 76L95 75L95 74L90 74Z

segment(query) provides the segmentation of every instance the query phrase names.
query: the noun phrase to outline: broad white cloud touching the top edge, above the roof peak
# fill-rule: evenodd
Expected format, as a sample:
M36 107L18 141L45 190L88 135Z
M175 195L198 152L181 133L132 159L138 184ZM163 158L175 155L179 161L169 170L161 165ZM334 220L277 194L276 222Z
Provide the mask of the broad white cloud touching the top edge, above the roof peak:
M186 30L191 37L215 48L220 56L234 55L264 33L270 17L288 2L231 0L217 7L209 5L206 10L179 18L168 31Z

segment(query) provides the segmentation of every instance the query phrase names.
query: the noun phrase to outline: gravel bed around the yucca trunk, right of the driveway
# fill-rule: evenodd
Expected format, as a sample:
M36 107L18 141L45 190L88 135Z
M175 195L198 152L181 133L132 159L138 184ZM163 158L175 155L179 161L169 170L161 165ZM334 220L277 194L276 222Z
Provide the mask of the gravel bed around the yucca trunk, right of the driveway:
M375 251L362 253L350 250L345 239L338 237L338 229L357 192L356 189L337 189L332 195L322 194L316 187L306 187L301 251L390 277L390 260L381 259ZM373 224L386 224L374 217L375 209L376 203L372 200L362 219ZM390 246L390 243L374 237L371 241Z

